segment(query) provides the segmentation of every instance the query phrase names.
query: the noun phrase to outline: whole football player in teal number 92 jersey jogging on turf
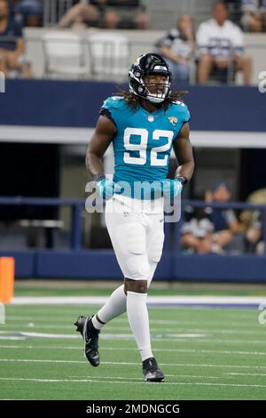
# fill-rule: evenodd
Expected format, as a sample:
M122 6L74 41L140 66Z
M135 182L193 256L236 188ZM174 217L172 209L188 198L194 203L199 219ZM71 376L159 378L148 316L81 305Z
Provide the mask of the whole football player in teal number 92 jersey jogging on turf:
M105 100L86 154L98 195L106 199L106 226L124 283L96 315L79 317L75 326L82 334L88 361L98 366L100 329L127 311L146 382L164 381L153 357L146 307L147 289L163 247L163 201L181 193L194 169L190 113L179 100L181 92L171 92L171 79L160 55L138 57L129 68L129 92ZM101 162L111 142L113 181L106 177ZM167 179L172 148L179 163L174 180Z

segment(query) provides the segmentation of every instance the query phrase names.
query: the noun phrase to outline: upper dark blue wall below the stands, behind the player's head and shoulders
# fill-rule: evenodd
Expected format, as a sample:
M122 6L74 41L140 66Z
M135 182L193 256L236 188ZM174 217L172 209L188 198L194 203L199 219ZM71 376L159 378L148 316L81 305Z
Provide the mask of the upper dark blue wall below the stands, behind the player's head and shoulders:
M0 125L93 127L103 100L117 89L108 82L7 80L0 94ZM192 130L266 132L266 93L257 87L188 90L184 101L192 113Z

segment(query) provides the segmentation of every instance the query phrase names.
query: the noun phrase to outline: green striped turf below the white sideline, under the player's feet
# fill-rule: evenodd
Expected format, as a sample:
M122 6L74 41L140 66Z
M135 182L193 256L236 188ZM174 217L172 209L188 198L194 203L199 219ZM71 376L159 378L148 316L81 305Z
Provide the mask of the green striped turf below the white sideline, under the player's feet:
M89 365L73 322L95 309L8 305L0 325L0 398L266 399L266 325L256 309L150 308L162 383L143 381L126 315L101 333L101 365ZM53 338L20 340L20 332Z

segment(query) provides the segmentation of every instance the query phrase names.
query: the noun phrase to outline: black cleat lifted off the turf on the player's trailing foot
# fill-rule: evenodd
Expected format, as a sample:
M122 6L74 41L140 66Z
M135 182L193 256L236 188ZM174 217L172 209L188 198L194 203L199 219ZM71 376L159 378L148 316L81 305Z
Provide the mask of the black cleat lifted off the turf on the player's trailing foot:
M84 340L84 356L90 362L91 366L97 367L99 365L98 334L100 330L94 328L91 318L79 317L74 322L74 326L76 326L76 331L82 334Z

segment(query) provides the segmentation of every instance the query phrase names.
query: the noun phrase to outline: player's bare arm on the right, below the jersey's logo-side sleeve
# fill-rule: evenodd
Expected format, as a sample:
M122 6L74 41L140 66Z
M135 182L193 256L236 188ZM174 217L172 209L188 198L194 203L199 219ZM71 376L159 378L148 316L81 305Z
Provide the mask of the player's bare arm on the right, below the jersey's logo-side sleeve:
M194 171L194 157L190 141L190 127L185 123L173 142L173 149L178 161L175 177L185 177L190 181Z

